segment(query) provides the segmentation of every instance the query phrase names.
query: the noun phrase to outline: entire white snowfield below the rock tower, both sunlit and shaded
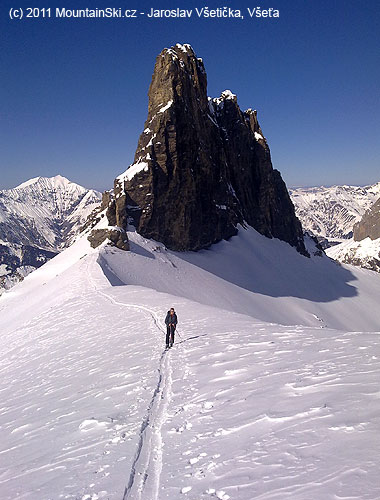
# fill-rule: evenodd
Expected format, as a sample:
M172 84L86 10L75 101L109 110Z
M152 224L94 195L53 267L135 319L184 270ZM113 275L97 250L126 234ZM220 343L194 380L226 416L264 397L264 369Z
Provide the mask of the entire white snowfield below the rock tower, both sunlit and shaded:
M0 298L0 498L378 500L380 276L129 237Z

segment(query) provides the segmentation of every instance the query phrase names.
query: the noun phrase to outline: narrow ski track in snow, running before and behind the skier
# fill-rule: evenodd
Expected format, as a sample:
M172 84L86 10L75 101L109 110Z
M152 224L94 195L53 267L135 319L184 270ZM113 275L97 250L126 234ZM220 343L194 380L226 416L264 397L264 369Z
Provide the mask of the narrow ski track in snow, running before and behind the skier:
M91 271L88 276L98 294L116 306L134 308L149 313L155 327L161 333L165 333L154 310L114 299L96 286ZM162 427L168 418L168 406L172 397L173 379L170 351L163 351L161 354L157 371L157 385L140 427L137 450L124 490L123 500L158 500L159 498L164 446Z

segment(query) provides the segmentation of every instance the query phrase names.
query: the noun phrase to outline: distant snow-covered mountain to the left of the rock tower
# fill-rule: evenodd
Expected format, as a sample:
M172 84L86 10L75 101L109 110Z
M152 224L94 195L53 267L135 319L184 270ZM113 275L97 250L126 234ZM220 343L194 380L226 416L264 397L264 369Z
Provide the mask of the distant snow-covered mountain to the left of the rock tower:
M0 292L68 247L100 199L60 175L0 191Z

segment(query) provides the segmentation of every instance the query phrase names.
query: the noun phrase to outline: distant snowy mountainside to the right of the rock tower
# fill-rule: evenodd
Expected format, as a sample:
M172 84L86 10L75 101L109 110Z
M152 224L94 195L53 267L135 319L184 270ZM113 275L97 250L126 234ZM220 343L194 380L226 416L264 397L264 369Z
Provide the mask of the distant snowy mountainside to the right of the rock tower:
M291 189L304 230L332 241L352 236L352 228L380 197L380 182L372 186L332 186Z

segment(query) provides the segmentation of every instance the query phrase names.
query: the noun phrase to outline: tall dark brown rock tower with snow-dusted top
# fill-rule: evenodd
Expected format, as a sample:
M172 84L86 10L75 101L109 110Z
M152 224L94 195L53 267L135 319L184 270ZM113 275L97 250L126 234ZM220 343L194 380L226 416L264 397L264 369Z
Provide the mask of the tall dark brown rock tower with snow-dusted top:
M241 111L230 91L208 98L203 62L189 45L157 57L134 163L114 193L108 217L117 226L133 221L173 250L206 248L248 224L308 255L256 111Z

